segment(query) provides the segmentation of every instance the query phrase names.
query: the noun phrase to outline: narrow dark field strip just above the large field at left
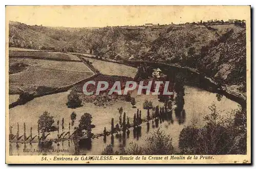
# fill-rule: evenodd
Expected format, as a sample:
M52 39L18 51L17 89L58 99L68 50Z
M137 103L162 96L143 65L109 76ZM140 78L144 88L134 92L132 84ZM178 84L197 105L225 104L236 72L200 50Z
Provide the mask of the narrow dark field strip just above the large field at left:
M9 58L31 58L31 59L45 59L45 60L64 60L64 61L80 61L75 55L61 52L47 52L47 51L16 51L9 50Z

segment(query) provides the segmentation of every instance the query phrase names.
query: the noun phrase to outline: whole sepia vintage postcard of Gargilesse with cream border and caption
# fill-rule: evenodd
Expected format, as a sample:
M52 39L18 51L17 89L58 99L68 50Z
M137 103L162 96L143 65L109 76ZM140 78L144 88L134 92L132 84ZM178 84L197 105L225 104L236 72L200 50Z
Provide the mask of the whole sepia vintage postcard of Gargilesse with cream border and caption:
M251 163L250 6L6 6L6 163Z

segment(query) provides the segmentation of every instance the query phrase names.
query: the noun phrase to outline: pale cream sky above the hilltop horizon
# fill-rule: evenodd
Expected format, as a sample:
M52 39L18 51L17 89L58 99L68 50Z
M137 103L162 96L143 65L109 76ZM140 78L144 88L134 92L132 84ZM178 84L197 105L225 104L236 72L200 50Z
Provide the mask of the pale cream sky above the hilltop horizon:
M249 6L7 6L6 20L29 25L103 27L250 19Z

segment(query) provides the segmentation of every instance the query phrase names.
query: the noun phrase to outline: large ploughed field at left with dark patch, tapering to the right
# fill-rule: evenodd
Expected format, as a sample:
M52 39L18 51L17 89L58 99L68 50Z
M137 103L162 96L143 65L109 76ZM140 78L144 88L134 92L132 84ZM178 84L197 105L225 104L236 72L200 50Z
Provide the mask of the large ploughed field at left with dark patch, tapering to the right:
M9 63L9 72L12 72L9 74L10 91L20 88L30 92L39 86L67 86L94 74L82 62L10 58ZM17 69L19 66L23 67Z

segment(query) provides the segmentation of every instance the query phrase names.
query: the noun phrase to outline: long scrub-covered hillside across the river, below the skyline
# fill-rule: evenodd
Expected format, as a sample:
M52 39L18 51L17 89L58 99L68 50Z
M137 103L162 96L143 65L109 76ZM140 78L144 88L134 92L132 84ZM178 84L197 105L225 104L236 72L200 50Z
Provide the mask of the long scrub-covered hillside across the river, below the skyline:
M245 92L245 29L239 26L186 24L60 29L15 22L10 24L10 30L15 30L10 32L10 38L15 34L14 47L26 47L33 42L32 48L38 49L43 41L48 46L56 46L58 50L91 50L92 54L111 59L119 53L124 59L133 56L135 59L176 63L196 68ZM230 34L226 36L227 33ZM53 41L49 42L49 39Z

